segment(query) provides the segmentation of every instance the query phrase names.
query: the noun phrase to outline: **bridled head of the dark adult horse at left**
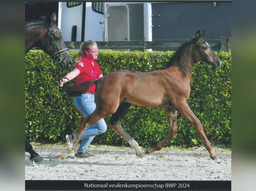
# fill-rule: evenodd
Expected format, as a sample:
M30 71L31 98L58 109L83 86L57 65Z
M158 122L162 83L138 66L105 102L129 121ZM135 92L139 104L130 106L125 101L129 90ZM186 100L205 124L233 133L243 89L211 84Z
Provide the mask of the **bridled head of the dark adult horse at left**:
M44 52L50 55L52 60L59 63L60 68L70 68L73 61L69 53L69 49L66 47L61 30L56 25L56 14L52 13L51 16L46 18L47 35L45 35L46 48L42 48Z

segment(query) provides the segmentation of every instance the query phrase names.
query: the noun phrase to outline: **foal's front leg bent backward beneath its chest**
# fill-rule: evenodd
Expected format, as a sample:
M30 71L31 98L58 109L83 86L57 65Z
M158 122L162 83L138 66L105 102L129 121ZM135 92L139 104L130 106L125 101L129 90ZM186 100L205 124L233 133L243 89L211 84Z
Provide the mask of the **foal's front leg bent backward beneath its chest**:
M167 113L167 119L169 123L169 132L165 138L163 138L159 143L157 143L155 146L152 146L150 148L146 148L144 151L144 154L149 154L151 152L154 152L156 150L160 150L176 133L177 131L177 111L171 109L171 111L166 108L165 109Z

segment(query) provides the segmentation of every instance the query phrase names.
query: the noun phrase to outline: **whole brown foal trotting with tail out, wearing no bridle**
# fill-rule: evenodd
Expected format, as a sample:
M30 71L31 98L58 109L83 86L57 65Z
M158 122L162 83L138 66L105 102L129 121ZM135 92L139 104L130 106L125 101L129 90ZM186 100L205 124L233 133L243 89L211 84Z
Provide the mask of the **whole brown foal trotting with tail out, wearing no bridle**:
M194 39L184 43L172 56L168 67L164 70L144 73L116 71L99 80L90 80L79 85L67 85L65 92L69 96L79 96L86 92L90 86L96 84L96 109L91 115L81 120L73 144L67 148L66 152L60 154L60 161L75 150L85 129L110 114L112 114L110 126L134 148L138 157L142 157L138 143L121 125L122 118L132 103L147 107L165 108L167 113L169 123L167 136L155 146L146 148L144 154L160 150L174 136L177 131L178 111L197 129L211 159L216 160L216 154L206 137L200 120L186 102L190 94L190 79L194 64L203 61L212 65L214 69L221 66L219 57L202 39L204 34L205 31L202 35L198 31Z

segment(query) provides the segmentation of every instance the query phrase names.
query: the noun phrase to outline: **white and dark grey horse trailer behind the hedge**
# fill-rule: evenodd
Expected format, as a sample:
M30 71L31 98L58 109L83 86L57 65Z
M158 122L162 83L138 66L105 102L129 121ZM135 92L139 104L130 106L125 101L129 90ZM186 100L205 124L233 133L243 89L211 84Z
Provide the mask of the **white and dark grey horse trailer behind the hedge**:
M197 30L206 30L207 40L231 37L231 0L25 2L25 8L55 11L64 41L182 41Z

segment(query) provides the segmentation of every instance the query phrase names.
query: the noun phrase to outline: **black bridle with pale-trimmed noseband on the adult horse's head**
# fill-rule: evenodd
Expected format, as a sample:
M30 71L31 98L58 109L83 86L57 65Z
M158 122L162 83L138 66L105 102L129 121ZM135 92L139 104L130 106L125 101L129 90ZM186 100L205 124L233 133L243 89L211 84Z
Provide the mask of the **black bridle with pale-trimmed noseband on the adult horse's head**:
M52 46L54 47L54 49L55 49L55 53L50 56L50 59L53 60L53 59L55 59L55 58L57 57L56 62L60 64L62 61L65 60L65 58L66 58L67 55L69 54L69 49L68 49L68 48L65 48L65 49L62 49L62 50L60 50L60 51L58 50L58 47L56 46L56 44L55 44L55 42L54 42L54 40L53 40L53 37L52 37L51 32L59 32L59 33L62 33L62 31L61 31L61 30L56 30L56 29L50 29L50 27L48 26L48 23L46 23L46 25L47 25L48 37L49 37L49 39L50 39L50 41L51 41L51 45L52 45ZM59 55L62 55L62 54L64 54L64 53L67 53L67 54L66 54L66 56L65 56L65 57L63 58L63 60L62 60L62 59L59 57Z

